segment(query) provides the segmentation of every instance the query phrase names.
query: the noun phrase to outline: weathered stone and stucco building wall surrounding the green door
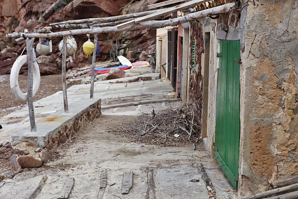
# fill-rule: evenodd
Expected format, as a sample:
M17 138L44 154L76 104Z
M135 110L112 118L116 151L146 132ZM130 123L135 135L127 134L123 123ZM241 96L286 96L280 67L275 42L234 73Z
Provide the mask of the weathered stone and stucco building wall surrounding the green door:
M196 40L190 92L201 106L204 81L204 34L210 32L207 138L212 155L215 135L218 39L240 40L239 195L269 189L270 182L298 174L298 2L241 1L241 12L190 24ZM228 31L223 32L224 24ZM201 38L203 37L203 38Z

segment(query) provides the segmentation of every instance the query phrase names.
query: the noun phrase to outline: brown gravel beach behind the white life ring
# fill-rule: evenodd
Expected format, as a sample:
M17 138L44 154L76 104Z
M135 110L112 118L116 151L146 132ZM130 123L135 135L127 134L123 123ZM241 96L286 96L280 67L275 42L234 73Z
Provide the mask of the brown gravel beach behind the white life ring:
M0 75L0 118L18 109L18 106L26 104L26 102L19 101L13 96L10 90L9 76L10 75ZM22 92L27 92L27 75L19 75L18 83ZM73 84L67 85L67 88L71 87L72 85ZM39 100L60 90L62 90L61 75L41 76L40 86L38 92L33 97L33 100ZM10 107L14 108L11 110L3 110Z

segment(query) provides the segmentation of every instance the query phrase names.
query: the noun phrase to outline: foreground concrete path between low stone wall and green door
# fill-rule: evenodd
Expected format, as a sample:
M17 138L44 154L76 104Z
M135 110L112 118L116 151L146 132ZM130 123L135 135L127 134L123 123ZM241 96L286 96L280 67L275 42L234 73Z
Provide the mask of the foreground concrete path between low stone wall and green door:
M148 198L147 173L153 171L156 199L209 198L200 173L192 163L218 168L201 144L193 151L186 147L159 147L131 142L121 134L109 133L115 125L131 122L134 116L102 115L84 128L68 146L58 149L55 159L41 168L18 174L0 188L0 198L29 198L43 176L48 179L38 199L54 199L66 178L75 179L69 198L97 198L101 172L107 171L103 198ZM198 158L203 156L203 158ZM218 198L230 198L233 192L220 169L207 170ZM124 171L133 171L133 187L121 194ZM216 180L215 180L216 178ZM199 180L199 182L191 182ZM2 183L0 183L1 186Z

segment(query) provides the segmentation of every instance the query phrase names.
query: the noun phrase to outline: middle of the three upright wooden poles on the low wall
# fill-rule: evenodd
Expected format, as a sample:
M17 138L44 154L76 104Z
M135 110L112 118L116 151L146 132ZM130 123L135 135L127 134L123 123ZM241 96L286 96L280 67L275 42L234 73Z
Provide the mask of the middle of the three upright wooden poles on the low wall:
M67 45L67 37L64 36L63 47L62 47L62 90L63 90L64 112L68 112L67 87L66 87L66 45Z

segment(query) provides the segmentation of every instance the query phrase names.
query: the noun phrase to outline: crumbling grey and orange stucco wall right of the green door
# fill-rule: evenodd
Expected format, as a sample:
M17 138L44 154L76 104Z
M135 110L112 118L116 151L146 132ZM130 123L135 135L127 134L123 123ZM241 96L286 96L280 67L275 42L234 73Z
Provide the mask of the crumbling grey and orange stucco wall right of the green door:
M241 46L239 195L298 174L298 1L254 0Z

